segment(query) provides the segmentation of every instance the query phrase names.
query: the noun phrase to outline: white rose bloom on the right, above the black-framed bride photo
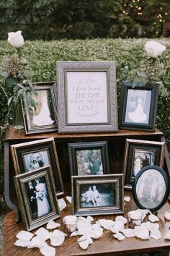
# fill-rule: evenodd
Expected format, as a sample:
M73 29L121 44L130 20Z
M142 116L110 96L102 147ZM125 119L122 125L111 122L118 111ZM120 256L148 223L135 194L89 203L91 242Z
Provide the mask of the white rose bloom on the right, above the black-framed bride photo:
M153 58L158 57L165 49L166 46L153 40L145 44L145 50L148 56Z

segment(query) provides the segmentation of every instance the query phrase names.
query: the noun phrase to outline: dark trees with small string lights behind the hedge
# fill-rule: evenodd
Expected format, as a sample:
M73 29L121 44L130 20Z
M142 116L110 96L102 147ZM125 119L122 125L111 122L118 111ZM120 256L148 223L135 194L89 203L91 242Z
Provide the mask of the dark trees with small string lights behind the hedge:
M169 36L169 9L169 0L0 1L0 38L16 30L30 40Z

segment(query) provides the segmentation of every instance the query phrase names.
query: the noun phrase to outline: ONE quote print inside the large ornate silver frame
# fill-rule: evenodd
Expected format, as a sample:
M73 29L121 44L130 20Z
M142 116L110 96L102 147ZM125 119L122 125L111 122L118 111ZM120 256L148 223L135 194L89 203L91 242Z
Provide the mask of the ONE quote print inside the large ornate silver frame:
M107 122L107 72L67 72L68 124Z

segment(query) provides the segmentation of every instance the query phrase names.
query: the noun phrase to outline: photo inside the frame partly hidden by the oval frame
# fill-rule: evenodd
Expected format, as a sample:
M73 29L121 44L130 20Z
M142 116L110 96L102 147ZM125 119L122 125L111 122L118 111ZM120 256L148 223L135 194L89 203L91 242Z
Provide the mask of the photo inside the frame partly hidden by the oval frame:
M132 178L138 174L138 172L146 166L153 165L155 161L154 150L137 150L133 152L133 170Z

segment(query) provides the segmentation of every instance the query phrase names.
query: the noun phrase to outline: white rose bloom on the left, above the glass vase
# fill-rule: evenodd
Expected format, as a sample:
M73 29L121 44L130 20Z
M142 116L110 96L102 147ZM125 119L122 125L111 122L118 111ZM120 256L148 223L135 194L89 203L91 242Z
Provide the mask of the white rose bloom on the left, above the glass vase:
M19 30L17 32L9 32L8 33L8 42L11 46L19 48L24 44L24 38L22 36L22 31Z

